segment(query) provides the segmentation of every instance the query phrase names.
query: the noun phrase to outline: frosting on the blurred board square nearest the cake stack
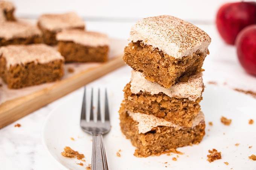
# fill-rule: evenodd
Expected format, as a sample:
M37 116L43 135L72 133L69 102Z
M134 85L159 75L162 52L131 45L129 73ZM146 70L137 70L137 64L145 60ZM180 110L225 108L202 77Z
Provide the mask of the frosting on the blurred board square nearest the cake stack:
M98 32L84 30L63 30L56 36L58 41L72 41L81 45L92 47L109 45L108 36Z

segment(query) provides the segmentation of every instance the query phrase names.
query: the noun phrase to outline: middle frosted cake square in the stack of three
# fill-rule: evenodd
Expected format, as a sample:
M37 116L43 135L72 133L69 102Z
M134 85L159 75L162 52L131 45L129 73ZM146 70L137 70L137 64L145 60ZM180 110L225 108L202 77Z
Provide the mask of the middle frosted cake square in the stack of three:
M178 82L166 89L145 79L139 71L132 71L131 81L124 88L125 109L134 113L151 114L178 125L191 127L201 110L204 84L201 73L187 82Z

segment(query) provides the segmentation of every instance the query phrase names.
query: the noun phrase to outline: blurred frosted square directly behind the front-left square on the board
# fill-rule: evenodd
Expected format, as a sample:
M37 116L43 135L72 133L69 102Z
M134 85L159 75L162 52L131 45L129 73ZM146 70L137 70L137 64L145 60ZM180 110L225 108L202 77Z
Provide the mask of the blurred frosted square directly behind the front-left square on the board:
M41 31L29 23L6 21L0 26L0 46L42 42Z

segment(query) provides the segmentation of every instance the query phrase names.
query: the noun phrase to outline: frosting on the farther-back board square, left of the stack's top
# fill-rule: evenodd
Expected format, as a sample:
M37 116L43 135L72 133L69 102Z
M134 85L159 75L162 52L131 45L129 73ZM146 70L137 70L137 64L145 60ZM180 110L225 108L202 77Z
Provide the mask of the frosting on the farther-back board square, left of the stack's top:
M85 26L82 18L78 17L75 12L68 12L65 14L44 14L39 17L38 23L44 29L50 31L59 31L62 29L72 29Z

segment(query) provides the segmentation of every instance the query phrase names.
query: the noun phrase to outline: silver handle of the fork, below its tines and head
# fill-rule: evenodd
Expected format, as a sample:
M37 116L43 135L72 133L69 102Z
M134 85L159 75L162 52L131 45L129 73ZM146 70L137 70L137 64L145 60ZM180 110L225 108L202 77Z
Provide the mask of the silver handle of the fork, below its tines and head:
M93 134L93 150L91 157L92 170L108 170L107 156L102 134Z

